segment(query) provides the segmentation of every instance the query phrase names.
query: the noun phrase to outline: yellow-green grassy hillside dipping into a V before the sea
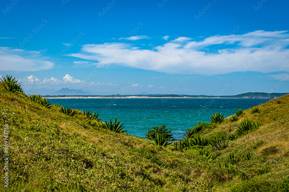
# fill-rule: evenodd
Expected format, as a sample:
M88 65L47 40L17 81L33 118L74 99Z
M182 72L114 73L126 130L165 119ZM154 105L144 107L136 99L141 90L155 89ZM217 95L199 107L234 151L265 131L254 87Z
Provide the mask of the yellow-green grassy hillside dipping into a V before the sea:
M46 109L24 94L5 91L2 85L0 107L1 132L4 123L10 127L8 191L210 191L204 183L214 183L213 189L218 191L230 191L242 180L280 180L289 175L289 96L260 105L261 113L250 114L248 109L238 122L226 119L204 132L205 137L228 133L231 124L233 133L243 119L262 122L258 130L214 152L218 157L211 162L194 152L210 151L209 146L183 153L173 151L173 146L154 146L128 134L90 127L81 113L68 117L57 107ZM262 150L271 146L277 151L262 155ZM255 159L242 159L232 168L225 168L223 156L232 151L239 156L251 152ZM4 165L3 159L0 164ZM0 191L3 188L1 184Z

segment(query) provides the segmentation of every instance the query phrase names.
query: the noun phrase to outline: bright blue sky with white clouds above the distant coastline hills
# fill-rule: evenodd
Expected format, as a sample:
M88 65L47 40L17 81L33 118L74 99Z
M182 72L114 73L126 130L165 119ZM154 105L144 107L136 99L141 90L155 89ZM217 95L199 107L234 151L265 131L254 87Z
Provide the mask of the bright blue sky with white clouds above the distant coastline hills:
M0 74L110 94L288 92L288 1L0 2Z

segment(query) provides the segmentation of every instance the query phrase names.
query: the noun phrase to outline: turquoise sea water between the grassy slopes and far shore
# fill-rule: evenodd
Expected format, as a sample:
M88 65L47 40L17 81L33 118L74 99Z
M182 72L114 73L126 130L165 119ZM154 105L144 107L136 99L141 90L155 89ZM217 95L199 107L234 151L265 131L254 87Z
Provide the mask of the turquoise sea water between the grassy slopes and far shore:
M173 130L173 137L181 139L184 130L199 121L209 122L210 115L221 112L225 117L236 109L248 109L269 99L235 98L70 98L49 99L65 107L96 111L102 120L117 117L124 123L127 132L144 137L147 129L166 125Z

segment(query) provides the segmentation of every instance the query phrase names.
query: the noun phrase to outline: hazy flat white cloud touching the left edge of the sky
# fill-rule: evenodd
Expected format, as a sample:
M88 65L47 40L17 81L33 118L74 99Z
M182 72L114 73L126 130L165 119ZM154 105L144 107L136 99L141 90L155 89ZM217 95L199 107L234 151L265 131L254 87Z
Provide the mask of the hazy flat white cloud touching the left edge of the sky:
M0 47L1 71L40 71L53 68L41 52Z

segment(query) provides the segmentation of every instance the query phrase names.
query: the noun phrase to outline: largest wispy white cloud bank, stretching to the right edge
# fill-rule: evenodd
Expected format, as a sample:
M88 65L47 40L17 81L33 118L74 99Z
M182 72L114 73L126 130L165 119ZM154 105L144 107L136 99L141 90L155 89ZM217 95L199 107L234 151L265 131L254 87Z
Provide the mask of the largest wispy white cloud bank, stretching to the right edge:
M165 73L218 75L231 72L289 71L288 31L254 31L192 41L178 37L153 49L130 43L83 45L69 56Z

